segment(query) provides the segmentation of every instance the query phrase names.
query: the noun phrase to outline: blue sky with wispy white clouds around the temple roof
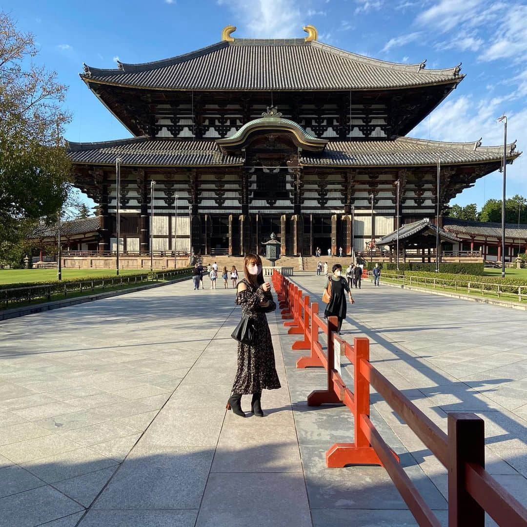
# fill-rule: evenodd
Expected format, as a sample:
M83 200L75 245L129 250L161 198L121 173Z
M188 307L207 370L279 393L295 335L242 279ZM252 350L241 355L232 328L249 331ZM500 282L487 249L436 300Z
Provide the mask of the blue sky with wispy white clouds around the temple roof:
M319 40L393 62L450 67L465 79L409 135L441 141L503 142L496 118L506 113L508 140L527 150L527 4L488 0L4 0L20 30L32 32L36 57L69 86L73 113L66 139L103 141L129 132L79 79L85 62L116 67L159 60L235 37L302 37L313 24ZM508 141L508 142L509 142ZM507 195L527 196L527 151L507 170ZM499 172L480 179L452 203L501 199Z

